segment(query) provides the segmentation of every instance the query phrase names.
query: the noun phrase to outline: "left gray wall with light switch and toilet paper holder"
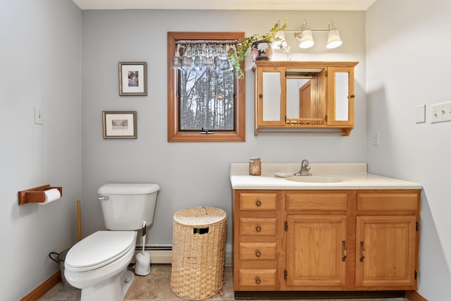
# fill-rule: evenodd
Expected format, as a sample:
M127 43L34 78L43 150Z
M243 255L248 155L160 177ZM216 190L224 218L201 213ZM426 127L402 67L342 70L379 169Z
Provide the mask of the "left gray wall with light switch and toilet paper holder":
M0 1L1 300L19 300L54 274L49 259L77 239L81 199L81 11L72 1ZM44 125L35 125L35 106ZM63 187L45 206L18 191Z

